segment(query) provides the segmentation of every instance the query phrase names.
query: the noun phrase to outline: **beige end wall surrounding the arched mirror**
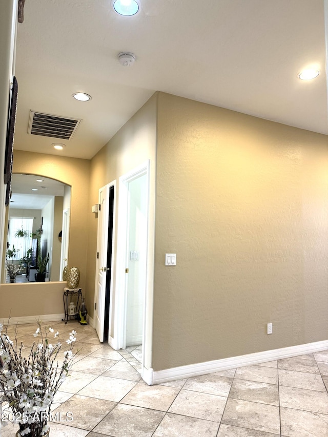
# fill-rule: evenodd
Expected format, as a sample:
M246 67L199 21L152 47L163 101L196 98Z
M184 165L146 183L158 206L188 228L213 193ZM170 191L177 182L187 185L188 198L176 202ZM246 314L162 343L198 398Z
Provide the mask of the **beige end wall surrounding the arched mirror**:
M89 176L90 176L90 161L86 159L66 158L55 155L44 155L39 153L24 152L20 150L14 151L13 173L35 174L38 176L51 177L53 179L71 185L71 220L70 220L70 242L69 242L69 265L76 266L80 269L80 286L83 288L83 293L93 294L93 290L86 288L86 272L87 272L87 253L88 253L88 194L89 194ZM91 212L90 212L91 215ZM12 288L8 289L8 286ZM64 312L63 309L63 288L65 282L42 283L41 288L44 290L56 289L57 298L61 293L61 298L54 305L52 299L47 299L47 293L43 293L44 299L41 302L36 302L36 294L32 294L33 300L26 304L26 299L20 299L20 295L16 293L16 287L19 287L19 292L24 295L24 289L30 289L31 284L7 284L0 285L0 316L9 317L7 309L15 308L15 317L27 316L28 305L42 309L42 313L35 314L58 314ZM12 293L4 292L4 290L12 290ZM59 293L59 290L61 292ZM4 293L3 293L4 292ZM17 302L20 304L17 305ZM34 306L36 305L36 306ZM59 307L61 310L58 310ZM12 317L14 315L12 314Z

